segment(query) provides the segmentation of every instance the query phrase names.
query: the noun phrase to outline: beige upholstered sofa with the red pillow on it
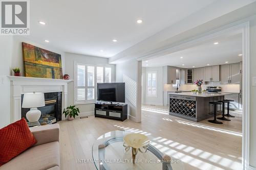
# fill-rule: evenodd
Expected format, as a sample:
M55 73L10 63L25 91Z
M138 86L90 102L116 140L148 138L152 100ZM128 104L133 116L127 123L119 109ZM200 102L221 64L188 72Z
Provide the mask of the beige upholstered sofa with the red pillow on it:
M60 169L59 125L46 125L30 128L37 143L9 162L0 170L55 170Z

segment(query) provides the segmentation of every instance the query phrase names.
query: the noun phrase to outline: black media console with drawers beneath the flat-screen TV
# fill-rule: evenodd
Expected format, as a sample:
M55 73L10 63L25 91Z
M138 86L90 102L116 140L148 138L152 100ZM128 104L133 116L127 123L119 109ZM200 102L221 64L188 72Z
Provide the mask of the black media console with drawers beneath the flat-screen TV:
M94 115L95 117L112 118L124 121L127 119L127 104L96 102Z

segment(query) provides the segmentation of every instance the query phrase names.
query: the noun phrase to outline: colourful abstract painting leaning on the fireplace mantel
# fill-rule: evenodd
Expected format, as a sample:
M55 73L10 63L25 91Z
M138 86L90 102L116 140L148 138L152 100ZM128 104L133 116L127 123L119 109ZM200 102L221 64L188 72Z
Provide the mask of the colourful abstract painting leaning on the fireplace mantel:
M61 55L23 42L25 77L62 79Z

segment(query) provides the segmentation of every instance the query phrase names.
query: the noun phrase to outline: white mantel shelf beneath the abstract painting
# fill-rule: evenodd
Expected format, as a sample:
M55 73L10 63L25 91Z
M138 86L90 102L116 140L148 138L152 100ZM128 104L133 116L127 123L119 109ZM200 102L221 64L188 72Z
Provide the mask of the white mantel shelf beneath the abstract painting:
M69 83L74 80L63 80L63 79L47 79L47 78L33 78L33 77L22 77L22 76L8 76L10 81L30 81L30 82L63 82Z

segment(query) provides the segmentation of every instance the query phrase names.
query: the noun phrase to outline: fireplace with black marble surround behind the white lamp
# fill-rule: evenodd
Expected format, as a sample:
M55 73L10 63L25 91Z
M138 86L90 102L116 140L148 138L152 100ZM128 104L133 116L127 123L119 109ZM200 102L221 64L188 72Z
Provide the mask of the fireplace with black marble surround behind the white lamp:
M41 117L55 117L56 121L61 120L61 96L62 92L47 92L45 94L45 106L38 108L41 111ZM23 103L23 96L21 95L21 102ZM21 103L21 106L22 106ZM26 118L26 113L29 111L28 108L22 108L22 117ZM27 119L27 118L26 118Z

